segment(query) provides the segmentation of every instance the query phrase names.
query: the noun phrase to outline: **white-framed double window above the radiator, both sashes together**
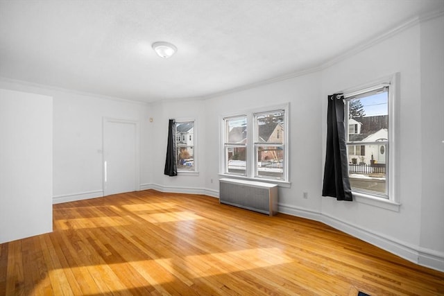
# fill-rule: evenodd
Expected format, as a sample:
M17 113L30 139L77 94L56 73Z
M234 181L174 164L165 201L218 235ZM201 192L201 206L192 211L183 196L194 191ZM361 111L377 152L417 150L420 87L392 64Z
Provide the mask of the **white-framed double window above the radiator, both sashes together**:
M288 104L223 119L221 173L288 182Z

